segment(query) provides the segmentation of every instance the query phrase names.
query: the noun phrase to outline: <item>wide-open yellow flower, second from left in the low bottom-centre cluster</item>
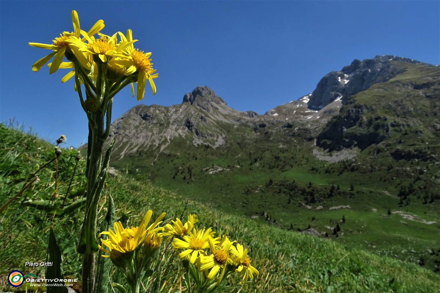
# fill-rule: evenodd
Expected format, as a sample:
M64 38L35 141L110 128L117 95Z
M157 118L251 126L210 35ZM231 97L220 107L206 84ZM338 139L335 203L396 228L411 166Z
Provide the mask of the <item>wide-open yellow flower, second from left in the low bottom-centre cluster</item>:
M211 228L205 229L206 227L203 227L202 230L197 231L194 228L193 232L182 237L183 240L179 238L172 239L172 248L186 249L179 254L180 258L185 258L191 254L190 262L194 264L197 256L205 253L203 249L209 247L209 241L218 242L218 238L213 239L215 232Z

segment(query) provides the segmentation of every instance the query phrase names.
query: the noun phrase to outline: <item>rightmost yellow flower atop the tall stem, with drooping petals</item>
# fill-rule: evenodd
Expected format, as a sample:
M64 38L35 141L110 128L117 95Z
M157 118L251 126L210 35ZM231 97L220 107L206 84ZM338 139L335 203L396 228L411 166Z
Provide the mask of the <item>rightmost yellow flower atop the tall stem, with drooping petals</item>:
M109 64L127 67L125 75L130 75L139 70L138 79L136 82L136 99L138 101L143 99L147 79L150 82L151 89L153 90L153 95L156 94L156 85L154 84L153 79L157 78L159 74L154 73L156 72L156 70L153 69L153 63L151 63L151 59L149 59L151 56L151 52L145 53L144 51L139 51L139 49L134 48L131 29L127 30L127 37L125 37L123 33L119 33L119 35L122 41L127 41L128 43L131 43L129 46L127 46L128 55L124 59L115 59L114 61L110 61ZM132 94L134 97L133 84L131 84L131 86Z

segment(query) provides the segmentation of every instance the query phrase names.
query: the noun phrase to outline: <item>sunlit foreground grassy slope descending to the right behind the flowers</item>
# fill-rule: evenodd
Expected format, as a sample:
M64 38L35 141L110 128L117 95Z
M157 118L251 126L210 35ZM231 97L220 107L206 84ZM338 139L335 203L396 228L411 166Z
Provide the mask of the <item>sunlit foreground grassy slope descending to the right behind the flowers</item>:
M0 125L0 132L0 205L3 205L21 188L23 178L52 157L53 146L3 125ZM64 150L58 161L58 192L55 192L54 186L55 166L50 165L40 173L40 183L27 192L26 201L37 201L59 194L52 205L61 205L73 172L72 160L75 155L75 151ZM77 184L71 188L73 191L81 190L84 184L81 175L84 165L82 159L74 177ZM116 218L124 223L136 224L147 209L153 209L155 215L167 212L166 223L180 216L186 196L154 187L145 177L139 172L132 178L123 174L110 177L99 205L100 215L105 215L106 194L111 193L115 199ZM245 181L245 176L242 180ZM268 188L275 184L268 185ZM68 201L70 203L78 199L73 197ZM65 259L65 274L79 276L80 258L74 246L79 237L81 209L69 214L58 212L53 216L53 212L57 211L53 207L46 212L44 208L36 209L22 201L23 198L17 199L0 215L1 284L4 285L5 275L9 271L23 269L25 261L45 259L49 227L53 227L59 239ZM341 231L354 225L355 219L352 216L357 214L352 214L351 210L344 210L344 213L342 210L331 211L333 214L329 211L326 216L334 220L340 218L341 214L345 215L346 222L341 223ZM246 284L241 292L435 292L440 284L438 274L416 264L374 255L353 248L353 245L350 247L287 231L247 216L223 212L214 209L206 200L190 201L186 207L188 212L197 214L199 225L214 227L216 230L227 229L231 238L250 247L252 264L259 269L260 276ZM366 217L371 216L367 212L365 214ZM392 220L394 216L385 219ZM324 214L316 216L315 221L320 217L324 217ZM402 235L405 233L401 231ZM168 253L171 255L166 263L168 269L162 292L180 292L180 262L176 252ZM35 267L30 272L38 276L43 274L41 267ZM112 281L119 281L117 274L113 275ZM220 288L220 291L237 292L238 279L229 278L228 281L227 286ZM144 280L145 284L148 282L148 279ZM11 288L4 286L3 289Z

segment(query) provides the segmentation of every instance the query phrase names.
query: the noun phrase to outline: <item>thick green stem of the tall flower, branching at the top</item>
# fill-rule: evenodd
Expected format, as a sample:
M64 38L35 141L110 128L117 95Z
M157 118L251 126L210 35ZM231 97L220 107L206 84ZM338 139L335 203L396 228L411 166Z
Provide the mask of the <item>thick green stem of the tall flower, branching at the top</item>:
M113 96L108 93L109 87L107 86L105 63L95 60L99 70L95 86L89 74L86 73L74 55L72 54L69 57L75 64L75 71L77 73L75 74L75 82L81 106L88 118L89 128L86 166L86 212L77 251L83 254L82 292L92 293L95 283L95 253L98 250L98 244L96 243L98 203L106 180L106 169L110 160L111 147L114 143L113 141L107 150L103 164L103 146L110 132ZM80 79L84 82L85 101L81 92Z

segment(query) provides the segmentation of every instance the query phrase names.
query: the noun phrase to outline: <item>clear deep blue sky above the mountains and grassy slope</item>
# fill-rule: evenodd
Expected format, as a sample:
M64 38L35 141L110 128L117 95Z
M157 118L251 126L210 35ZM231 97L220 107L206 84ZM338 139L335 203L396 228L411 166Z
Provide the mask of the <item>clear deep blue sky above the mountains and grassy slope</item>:
M439 64L440 1L0 1L0 120L31 126L51 142L87 141L87 119L67 70L31 66L51 43L103 19L103 33L132 29L151 51L156 95L138 102L129 88L112 120L140 103L169 106L207 85L237 110L264 114L312 92L321 77L354 59L397 55Z

